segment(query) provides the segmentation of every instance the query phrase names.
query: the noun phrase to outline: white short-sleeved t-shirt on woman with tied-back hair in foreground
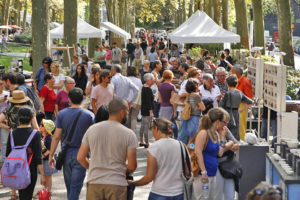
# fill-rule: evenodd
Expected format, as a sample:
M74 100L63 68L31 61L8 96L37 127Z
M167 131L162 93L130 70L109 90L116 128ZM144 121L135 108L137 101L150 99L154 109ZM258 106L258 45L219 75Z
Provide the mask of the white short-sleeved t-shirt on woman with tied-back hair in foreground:
M162 138L151 144L148 152L157 162L157 173L151 192L169 197L182 194L182 162L179 141Z

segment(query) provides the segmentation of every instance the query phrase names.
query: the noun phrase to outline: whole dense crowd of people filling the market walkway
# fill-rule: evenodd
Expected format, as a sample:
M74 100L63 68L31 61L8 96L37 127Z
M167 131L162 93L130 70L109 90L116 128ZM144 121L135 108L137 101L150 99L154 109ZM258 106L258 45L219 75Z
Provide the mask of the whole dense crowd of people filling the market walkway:
M74 55L69 75L46 57L32 88L22 74L6 73L0 80L2 159L12 151L10 140L24 145L33 129L39 130L27 148L28 158L33 155L31 184L19 190L19 199L34 195L37 168L41 183L55 193L60 141L69 200L79 199L87 170L87 199L126 199L128 182L153 181L149 199L183 200L181 144L194 150L198 164L195 198L234 199L238 179L225 179L218 166L244 140L251 83L233 65L229 49L217 63L208 51L195 61L185 52L182 44L140 38L122 50L116 43L97 45L93 62ZM147 148L146 174L128 181L137 168L138 146ZM12 189L11 199L16 198Z

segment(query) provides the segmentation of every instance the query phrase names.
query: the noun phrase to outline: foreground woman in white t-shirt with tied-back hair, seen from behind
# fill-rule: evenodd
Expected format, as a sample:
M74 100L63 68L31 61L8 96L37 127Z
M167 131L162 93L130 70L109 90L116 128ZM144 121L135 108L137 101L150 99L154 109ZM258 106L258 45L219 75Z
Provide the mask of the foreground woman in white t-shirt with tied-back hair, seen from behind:
M146 174L133 183L143 186L153 181L148 200L183 200L180 142L171 138L172 122L154 119L152 133L156 141L148 148Z

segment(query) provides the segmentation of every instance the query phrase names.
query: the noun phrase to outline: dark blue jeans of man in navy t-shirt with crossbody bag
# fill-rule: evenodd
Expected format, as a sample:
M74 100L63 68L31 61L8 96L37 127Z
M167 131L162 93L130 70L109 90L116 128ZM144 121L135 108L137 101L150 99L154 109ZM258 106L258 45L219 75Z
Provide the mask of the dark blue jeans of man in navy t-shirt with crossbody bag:
M78 150L79 149L68 149L63 165L68 200L79 199L86 174L86 169L77 161Z

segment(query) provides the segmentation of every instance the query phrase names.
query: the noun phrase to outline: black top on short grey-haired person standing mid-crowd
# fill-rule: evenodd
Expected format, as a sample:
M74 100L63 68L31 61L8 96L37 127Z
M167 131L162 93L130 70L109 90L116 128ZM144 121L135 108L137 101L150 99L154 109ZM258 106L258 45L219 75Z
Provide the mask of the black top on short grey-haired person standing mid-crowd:
M152 89L149 87L143 86L142 88L142 105L141 105L141 113L142 116L150 116L150 110L153 109L154 97L152 93Z

